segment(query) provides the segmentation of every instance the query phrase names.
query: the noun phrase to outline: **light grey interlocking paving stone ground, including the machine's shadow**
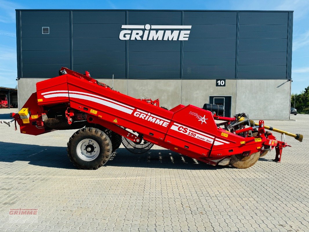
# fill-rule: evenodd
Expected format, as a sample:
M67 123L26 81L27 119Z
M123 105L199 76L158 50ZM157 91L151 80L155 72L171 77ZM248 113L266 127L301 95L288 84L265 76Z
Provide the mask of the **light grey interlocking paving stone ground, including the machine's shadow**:
M0 109L0 120L13 110ZM74 131L39 136L0 125L0 231L309 231L309 115L265 124L287 137L249 169L213 167L154 146L119 148L98 170L76 170L66 153ZM280 135L277 134L280 138ZM37 215L9 214L36 208ZM27 220L25 220L27 219Z

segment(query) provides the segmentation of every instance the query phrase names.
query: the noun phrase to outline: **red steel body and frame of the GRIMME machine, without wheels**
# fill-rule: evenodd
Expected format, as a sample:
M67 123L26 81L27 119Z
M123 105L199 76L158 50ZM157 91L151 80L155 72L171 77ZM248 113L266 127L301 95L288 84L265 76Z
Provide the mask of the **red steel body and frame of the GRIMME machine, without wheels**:
M280 162L282 148L288 146L277 141L268 132L265 136L264 121L259 122L258 136L242 137L237 133L252 130L247 127L236 134L217 126L216 120L230 123L235 118L220 117L194 105L178 105L171 110L159 107L159 100L136 99L97 83L89 72L86 75L62 67L66 74L36 84L23 108L31 112L30 123L23 124L18 114L21 133L39 135L49 132L44 127L43 106L65 103L66 116L74 111L87 113L87 121L96 123L126 136L135 142L143 138L153 144L170 149L212 165L235 154L250 155L261 152L264 145L276 148L276 161ZM125 129L137 131L136 136Z

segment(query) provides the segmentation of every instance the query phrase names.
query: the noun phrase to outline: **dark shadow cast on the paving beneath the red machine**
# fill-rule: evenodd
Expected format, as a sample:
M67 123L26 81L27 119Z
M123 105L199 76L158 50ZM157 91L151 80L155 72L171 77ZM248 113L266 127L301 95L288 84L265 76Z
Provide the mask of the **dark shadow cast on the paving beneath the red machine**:
M65 147L39 146L0 142L0 162L28 161L31 165L75 169L67 157ZM107 166L169 168L187 170L216 170L229 167L212 166L170 150L151 149L144 154L132 154L119 148L107 162Z

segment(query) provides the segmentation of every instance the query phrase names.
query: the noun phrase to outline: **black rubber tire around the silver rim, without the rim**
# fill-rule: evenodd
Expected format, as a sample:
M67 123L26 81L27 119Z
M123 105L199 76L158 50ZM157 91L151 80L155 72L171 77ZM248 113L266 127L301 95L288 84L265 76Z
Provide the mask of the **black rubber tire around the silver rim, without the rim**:
M78 157L76 149L80 141L84 139L95 140L100 146L98 157L92 161L84 161ZM68 157L78 169L95 170L106 164L112 154L112 142L101 130L93 127L85 127L76 131L68 142Z

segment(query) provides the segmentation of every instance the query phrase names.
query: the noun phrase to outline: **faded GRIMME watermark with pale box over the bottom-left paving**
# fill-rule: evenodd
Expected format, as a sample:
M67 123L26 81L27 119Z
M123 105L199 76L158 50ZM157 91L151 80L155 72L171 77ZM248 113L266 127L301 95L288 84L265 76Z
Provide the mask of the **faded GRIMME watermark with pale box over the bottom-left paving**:
M11 208L9 210L9 223L25 224L38 222L37 208Z

